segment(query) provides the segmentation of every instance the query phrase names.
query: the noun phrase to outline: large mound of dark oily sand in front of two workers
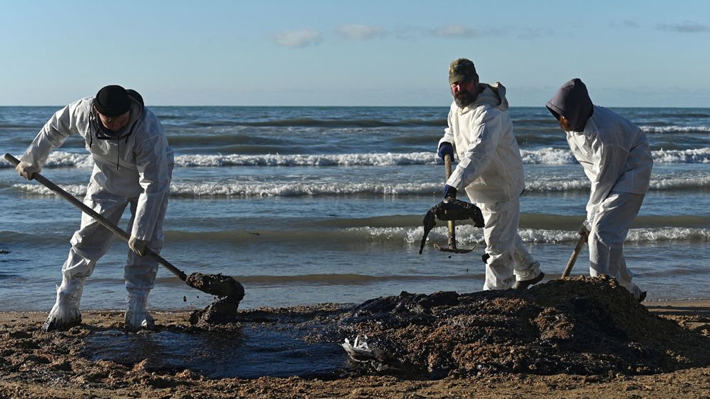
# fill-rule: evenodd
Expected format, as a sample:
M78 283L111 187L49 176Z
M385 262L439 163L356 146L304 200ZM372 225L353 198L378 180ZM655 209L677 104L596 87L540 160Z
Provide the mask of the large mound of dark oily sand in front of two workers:
M710 365L710 337L654 316L607 276L527 291L382 297L338 321L367 336L365 374L443 378L524 373L638 375Z

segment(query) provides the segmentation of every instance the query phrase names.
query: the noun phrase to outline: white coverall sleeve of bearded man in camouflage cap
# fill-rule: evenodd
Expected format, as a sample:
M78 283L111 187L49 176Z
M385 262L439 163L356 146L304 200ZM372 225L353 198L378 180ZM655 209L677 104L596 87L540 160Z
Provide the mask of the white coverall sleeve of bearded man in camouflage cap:
M486 110L471 120L466 129L470 144L446 184L462 190L474 182L495 157L502 130L502 113Z

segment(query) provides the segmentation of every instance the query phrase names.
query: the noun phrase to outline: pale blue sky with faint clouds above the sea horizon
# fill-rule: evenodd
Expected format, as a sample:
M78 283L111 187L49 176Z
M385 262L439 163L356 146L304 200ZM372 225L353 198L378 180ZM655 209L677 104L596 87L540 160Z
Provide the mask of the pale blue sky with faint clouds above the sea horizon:
M0 105L107 84L148 105L447 106L470 58L509 102L710 107L710 1L0 1Z

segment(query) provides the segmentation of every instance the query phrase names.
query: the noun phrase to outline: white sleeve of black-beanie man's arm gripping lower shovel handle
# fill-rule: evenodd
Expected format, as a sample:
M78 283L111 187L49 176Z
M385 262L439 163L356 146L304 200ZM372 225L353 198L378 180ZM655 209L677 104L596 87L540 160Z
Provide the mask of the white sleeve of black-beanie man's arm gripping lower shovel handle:
M151 128L163 130L159 124ZM170 195L171 165L168 160L168 148L166 136L156 134L143 142L136 142L133 149L136 154L138 179L143 189L138 197L131 229L131 235L137 239L151 240L158 215L161 214L163 200Z

